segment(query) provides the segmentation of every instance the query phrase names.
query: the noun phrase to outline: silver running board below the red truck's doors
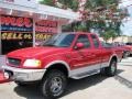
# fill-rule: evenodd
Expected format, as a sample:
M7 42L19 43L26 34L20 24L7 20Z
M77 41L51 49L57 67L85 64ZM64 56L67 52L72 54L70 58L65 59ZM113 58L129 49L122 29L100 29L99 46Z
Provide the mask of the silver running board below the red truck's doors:
M88 77L88 76L91 76L91 75L95 75L95 74L99 74L99 73L100 73L100 69L95 69L95 70L90 70L90 72L73 75L70 78L81 79L81 78L85 78L85 77Z

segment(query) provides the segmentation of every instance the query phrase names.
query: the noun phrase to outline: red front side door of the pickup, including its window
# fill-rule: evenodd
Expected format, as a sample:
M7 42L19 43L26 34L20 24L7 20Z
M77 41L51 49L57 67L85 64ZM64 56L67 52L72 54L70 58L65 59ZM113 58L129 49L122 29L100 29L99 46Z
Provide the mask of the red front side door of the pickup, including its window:
M77 43L82 43L82 48L76 48ZM79 34L73 47L70 66L73 69L91 66L95 61L95 54L91 50L91 43L87 34ZM87 69L85 69L87 70Z

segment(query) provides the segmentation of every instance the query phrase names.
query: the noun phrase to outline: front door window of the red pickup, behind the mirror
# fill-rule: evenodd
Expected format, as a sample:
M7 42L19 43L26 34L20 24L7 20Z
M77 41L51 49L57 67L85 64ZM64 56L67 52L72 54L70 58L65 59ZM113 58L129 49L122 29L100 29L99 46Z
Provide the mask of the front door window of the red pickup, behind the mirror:
M85 48L90 47L90 42L86 34L80 34L77 38L77 43L82 43L85 45Z

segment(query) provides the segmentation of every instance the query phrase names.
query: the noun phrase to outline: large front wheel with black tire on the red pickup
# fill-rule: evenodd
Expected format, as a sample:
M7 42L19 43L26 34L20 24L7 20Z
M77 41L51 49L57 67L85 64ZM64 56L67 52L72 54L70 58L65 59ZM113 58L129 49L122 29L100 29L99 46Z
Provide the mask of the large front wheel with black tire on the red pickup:
M42 80L41 91L45 98L55 99L64 94L66 85L66 75L61 70L53 69Z

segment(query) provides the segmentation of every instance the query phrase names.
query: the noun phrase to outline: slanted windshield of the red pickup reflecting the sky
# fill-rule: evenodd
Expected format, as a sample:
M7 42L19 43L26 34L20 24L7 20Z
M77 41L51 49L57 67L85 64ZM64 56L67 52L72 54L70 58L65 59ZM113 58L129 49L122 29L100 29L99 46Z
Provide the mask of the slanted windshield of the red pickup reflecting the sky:
M75 34L55 34L43 43L43 46L69 47L75 38Z

